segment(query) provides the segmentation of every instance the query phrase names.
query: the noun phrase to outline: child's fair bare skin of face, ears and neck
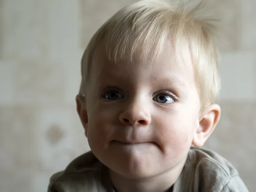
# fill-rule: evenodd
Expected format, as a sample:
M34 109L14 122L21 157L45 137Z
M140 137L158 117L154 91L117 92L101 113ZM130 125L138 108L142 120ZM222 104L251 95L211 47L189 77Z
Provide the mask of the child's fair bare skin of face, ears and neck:
M77 111L93 154L118 192L165 192L183 169L191 144L201 147L220 117L200 113L189 50L183 63L168 45L157 62L110 62L98 46Z

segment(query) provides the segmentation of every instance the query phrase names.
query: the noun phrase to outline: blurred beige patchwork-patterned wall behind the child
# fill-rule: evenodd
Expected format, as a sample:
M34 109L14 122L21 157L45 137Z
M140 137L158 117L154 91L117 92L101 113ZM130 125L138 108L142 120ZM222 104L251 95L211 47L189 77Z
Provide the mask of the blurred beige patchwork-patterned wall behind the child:
M134 0L0 0L0 192L46 192L89 150L75 96L96 29ZM215 0L223 14L221 121L205 147L256 190L256 1Z

